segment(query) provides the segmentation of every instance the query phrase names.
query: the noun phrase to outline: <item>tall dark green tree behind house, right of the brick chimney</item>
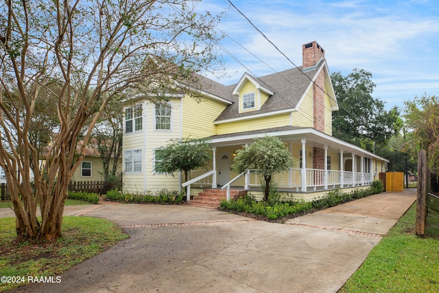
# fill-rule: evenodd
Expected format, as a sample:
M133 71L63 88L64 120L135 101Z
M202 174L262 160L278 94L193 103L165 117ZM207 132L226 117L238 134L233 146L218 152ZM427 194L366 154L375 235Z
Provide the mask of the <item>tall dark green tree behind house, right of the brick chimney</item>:
M331 74L340 110L333 113L333 136L372 151L399 132L399 109L384 110L384 102L372 97L372 73L353 69L343 76ZM375 143L375 144L374 144Z

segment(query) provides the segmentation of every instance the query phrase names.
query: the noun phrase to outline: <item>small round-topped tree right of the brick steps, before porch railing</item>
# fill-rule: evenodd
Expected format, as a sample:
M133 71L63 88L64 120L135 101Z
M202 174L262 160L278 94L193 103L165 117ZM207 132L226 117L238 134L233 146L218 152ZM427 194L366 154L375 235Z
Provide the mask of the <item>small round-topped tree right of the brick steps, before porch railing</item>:
M263 200L267 201L272 176L287 171L292 165L292 154L278 137L263 137L254 139L248 148L237 150L232 169L238 173L257 169L265 180Z

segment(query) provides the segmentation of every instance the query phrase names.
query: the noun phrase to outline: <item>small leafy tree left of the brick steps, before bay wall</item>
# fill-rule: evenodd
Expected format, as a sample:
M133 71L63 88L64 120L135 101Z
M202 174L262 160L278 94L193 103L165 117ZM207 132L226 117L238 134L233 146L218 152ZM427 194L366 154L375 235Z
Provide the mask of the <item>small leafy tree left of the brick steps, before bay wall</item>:
M156 152L156 172L175 174L185 173L185 181L189 179L191 170L205 167L212 158L212 150L203 139L171 140L169 145Z

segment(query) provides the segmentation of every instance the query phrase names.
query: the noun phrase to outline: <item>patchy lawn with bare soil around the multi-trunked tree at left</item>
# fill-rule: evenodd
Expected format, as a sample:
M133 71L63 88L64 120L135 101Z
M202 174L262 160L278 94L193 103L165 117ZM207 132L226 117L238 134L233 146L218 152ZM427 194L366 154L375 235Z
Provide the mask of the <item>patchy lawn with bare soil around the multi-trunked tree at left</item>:
M64 217L62 238L54 243L16 243L15 218L0 218L2 276L53 276L128 238L119 226L104 219ZM19 284L0 283L0 292Z

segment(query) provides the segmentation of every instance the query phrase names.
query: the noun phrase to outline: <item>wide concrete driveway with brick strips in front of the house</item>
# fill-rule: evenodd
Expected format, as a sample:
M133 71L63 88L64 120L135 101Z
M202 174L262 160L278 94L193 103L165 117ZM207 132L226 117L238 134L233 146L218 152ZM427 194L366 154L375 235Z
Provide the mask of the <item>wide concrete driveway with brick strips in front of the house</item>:
M61 283L15 292L337 292L415 198L414 189L378 194L287 224L187 206L67 207L112 220L130 238Z

